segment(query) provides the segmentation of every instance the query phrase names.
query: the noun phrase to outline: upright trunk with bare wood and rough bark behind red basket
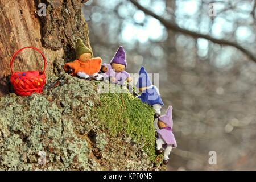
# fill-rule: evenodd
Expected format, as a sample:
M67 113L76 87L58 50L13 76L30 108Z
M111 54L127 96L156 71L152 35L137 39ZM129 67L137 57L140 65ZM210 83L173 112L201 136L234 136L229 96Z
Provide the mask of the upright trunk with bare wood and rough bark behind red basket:
M34 46L47 58L47 72L57 58L72 60L77 38L90 47L88 27L81 15L82 0L15 1L0 0L0 96L11 91L10 59L15 51ZM46 16L39 17L39 3L46 5ZM42 69L39 53L24 50L14 61L14 70Z

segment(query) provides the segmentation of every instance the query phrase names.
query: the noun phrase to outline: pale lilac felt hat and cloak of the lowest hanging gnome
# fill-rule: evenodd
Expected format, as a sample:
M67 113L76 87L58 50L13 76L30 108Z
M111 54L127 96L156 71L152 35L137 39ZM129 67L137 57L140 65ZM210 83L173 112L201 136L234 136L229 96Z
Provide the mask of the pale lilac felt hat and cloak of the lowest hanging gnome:
M158 121L162 121L167 126L163 129L157 130L158 136L162 138L167 145L171 145L172 147L176 148L177 143L174 134L172 133L172 106L168 107L166 114L160 116Z

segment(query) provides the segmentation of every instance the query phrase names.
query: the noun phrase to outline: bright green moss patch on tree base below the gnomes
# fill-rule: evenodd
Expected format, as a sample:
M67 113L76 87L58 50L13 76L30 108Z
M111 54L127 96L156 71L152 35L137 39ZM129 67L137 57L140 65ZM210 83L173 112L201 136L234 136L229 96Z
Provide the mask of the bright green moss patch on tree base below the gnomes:
M127 93L127 89L126 93L121 93L123 89L120 86L109 86L109 90L114 89L114 93L100 94L102 106L98 107L97 111L102 125L107 127L113 136L120 133L129 135L143 147L150 159L154 160L154 110L133 94Z

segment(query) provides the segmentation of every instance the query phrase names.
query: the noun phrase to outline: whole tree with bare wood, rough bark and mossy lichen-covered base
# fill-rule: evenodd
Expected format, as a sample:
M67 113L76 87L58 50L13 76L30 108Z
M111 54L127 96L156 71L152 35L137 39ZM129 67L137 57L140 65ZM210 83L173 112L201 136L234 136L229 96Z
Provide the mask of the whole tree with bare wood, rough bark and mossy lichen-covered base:
M42 18L41 2L47 7ZM9 63L16 50L38 47L48 60L43 94L1 97L0 170L163 168L162 157L155 156L152 107L130 93L100 94L97 82L53 74L63 73L61 64L75 58L77 38L90 47L82 2L0 0L0 95L10 92ZM32 50L15 60L15 69L39 67L42 57Z

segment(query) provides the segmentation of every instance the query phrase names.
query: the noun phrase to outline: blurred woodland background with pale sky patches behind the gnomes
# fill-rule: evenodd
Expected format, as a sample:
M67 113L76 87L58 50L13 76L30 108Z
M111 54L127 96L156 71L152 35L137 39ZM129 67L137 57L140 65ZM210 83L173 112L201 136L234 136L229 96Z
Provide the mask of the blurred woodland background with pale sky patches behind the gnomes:
M123 45L127 71L144 65L159 73L162 112L174 106L178 145L168 169L256 169L256 2L138 1L182 30L221 40L213 43L165 26L131 1L89 0L83 13L94 55L109 63ZM217 152L216 165L209 151Z

